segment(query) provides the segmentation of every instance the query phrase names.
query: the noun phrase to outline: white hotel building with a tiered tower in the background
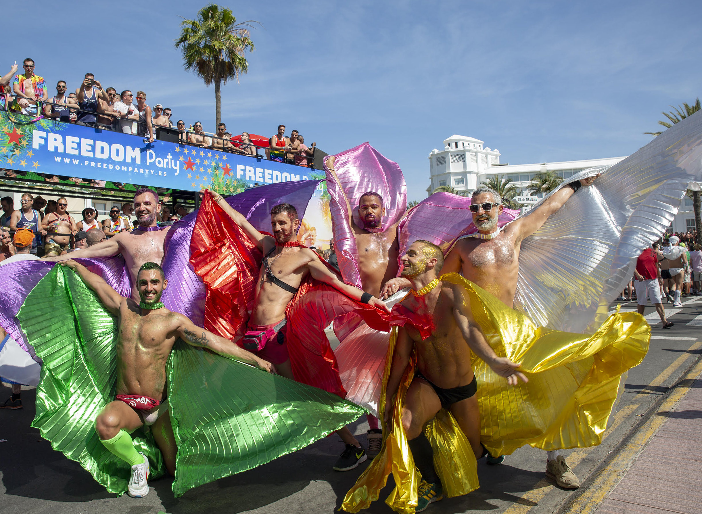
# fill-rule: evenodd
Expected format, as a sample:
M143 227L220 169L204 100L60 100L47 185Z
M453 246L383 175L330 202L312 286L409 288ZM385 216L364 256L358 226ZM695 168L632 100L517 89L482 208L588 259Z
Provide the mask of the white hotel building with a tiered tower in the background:
M609 157L606 159L585 159L581 161L542 162L537 164L501 164L500 152L483 146L483 141L466 136L453 135L444 140L444 149L436 148L429 153L429 169L431 184L427 194L442 185L453 187L455 190L474 191L484 180L494 176L511 178L517 186L519 195L529 196L527 186L536 173L555 171L568 180L574 173L593 166L611 166L624 157ZM541 197L541 193L537 195ZM687 232L694 229L694 213L692 200L685 197L680 211L673 221L675 232Z

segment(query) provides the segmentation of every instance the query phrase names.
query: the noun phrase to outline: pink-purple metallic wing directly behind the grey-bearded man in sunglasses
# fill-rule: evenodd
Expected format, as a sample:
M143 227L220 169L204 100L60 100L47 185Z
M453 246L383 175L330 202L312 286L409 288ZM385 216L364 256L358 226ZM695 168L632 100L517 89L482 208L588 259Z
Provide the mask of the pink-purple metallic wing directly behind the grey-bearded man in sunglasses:
M519 216L519 211L503 209L498 225L503 226ZM477 232L470 213L470 197L437 192L409 210L399 223L397 234L400 255L417 239L440 246L444 253L458 237Z

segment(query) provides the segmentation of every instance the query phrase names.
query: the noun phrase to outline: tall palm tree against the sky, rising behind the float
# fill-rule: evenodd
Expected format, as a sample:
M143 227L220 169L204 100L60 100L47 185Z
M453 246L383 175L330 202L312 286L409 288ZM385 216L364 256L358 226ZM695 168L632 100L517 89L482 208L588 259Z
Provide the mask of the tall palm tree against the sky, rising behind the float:
M231 9L209 4L197 13L197 20L180 22L183 29L176 39L176 48L183 51L183 67L194 70L205 86L215 85L215 126L222 119L221 84L237 79L239 74L249 71L246 51L253 51L249 29L253 20L237 23ZM260 24L259 24L260 25Z

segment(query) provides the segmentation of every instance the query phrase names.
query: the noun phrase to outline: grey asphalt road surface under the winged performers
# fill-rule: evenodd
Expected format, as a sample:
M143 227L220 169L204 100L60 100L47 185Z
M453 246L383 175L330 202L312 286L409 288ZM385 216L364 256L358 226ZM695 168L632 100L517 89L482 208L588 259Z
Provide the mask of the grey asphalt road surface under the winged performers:
M622 302L623 309L635 309L635 302ZM658 321L653 308L647 308ZM613 412L609 429L599 447L562 452L581 481L592 473L607 454L614 451L642 416L677 381L702 353L702 297L684 298L684 307L673 314L673 329L652 325L649 353L631 370L625 392ZM0 388L0 398L10 394ZM107 494L78 463L69 461L29 425L34 417L34 391L22 393L25 408L0 411L0 512L13 514L125 513L329 513L357 479L357 470L338 473L331 469L343 450L336 435L326 437L294 454L282 456L265 466L190 489L176 499L171 480L150 482L151 492L143 499L126 494ZM365 443L364 419L353 430ZM501 466L478 463L481 487L466 496L444 499L430 506L428 513L541 514L557 512L573 494L555 487L544 477L545 452L524 447L508 456ZM382 499L389 494L392 477L368 512L391 513Z

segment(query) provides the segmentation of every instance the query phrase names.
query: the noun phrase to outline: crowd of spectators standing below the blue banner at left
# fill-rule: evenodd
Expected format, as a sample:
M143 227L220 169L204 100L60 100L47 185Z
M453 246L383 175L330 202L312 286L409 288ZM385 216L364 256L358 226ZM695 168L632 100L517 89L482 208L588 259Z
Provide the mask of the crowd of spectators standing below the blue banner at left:
M159 225L172 225L187 216L187 207L182 204L168 206L170 197L164 196L161 212L157 213ZM22 237L32 236L31 247L22 246L22 254L36 258L58 256L71 251L86 248L113 237L124 230L133 230L138 225L131 203L112 206L110 215L102 220L93 207L86 207L81 217L73 216L67 211L68 202L64 197L58 200L46 200L29 193L22 195L20 209L15 209L13 197L0 199L0 261L18 253L18 246L13 240L18 232ZM32 257L23 257L25 259Z

